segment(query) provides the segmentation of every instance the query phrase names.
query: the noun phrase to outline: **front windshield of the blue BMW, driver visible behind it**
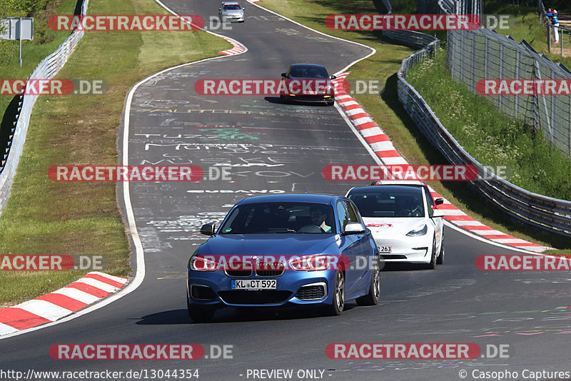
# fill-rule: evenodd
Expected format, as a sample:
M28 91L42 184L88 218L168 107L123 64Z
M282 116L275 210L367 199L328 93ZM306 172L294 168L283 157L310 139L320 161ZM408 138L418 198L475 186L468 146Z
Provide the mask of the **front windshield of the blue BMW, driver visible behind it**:
M320 203L249 203L234 208L221 234L308 233L335 231L333 208Z

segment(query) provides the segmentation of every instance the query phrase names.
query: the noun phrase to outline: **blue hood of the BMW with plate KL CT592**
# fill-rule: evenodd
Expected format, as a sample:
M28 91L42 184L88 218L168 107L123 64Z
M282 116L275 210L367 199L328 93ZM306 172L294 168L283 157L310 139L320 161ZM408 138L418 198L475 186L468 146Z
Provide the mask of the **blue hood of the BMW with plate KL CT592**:
M218 234L197 250L200 255L310 255L323 253L336 235Z

